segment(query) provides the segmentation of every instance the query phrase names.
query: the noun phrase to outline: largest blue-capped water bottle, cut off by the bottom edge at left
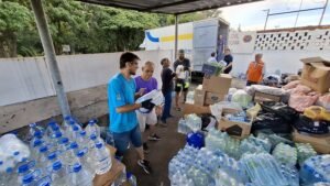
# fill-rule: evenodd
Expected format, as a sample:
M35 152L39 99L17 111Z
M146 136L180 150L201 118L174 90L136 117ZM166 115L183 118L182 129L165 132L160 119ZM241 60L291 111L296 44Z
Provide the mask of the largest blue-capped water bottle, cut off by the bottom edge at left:
M81 166L80 163L76 163L73 166L73 173L69 174L69 186L92 186L92 179L88 172Z

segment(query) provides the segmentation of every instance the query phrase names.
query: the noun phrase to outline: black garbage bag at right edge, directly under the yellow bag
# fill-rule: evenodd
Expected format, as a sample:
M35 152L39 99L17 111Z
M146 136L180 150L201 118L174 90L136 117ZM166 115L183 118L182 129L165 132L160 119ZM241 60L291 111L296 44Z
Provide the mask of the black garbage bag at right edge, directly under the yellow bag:
M326 134L329 133L330 122L327 121L314 121L304 114L300 114L299 119L295 122L294 127L299 132L306 132L311 134Z

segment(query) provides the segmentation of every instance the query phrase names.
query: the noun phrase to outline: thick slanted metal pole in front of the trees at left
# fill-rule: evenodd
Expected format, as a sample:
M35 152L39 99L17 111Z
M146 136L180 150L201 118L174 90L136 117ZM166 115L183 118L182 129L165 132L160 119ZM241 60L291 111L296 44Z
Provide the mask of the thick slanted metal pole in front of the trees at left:
M50 30L47 26L47 21L45 19L45 13L43 10L43 6L41 0L31 0L32 9L34 12L37 31L43 44L43 48L45 52L46 61L50 66L50 72L52 75L53 84L56 90L58 105L61 107L61 111L63 117L70 114L70 109L68 106L67 97L64 91L63 83L61 79L59 69L57 66L56 54L53 45L53 41L50 34Z

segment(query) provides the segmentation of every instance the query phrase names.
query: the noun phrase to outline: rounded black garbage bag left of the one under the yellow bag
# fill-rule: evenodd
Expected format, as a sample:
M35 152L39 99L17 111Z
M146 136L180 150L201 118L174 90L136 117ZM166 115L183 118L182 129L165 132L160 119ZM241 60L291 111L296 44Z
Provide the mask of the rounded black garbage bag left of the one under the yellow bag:
M274 133L290 133L292 125L283 117L272 112L263 112L252 123L252 133L260 130L271 130Z

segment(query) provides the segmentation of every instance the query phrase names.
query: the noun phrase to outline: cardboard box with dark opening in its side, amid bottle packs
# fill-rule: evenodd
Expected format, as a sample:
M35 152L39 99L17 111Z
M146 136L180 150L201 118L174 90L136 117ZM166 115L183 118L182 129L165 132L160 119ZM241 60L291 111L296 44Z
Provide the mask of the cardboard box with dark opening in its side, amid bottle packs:
M223 116L227 113L235 113L237 110L233 109L223 109ZM222 117L218 122L218 129L221 131L226 131L228 134L238 138L244 139L248 138L251 133L253 119L249 123L246 122L239 122L239 121L230 121L227 118Z

